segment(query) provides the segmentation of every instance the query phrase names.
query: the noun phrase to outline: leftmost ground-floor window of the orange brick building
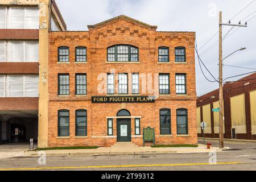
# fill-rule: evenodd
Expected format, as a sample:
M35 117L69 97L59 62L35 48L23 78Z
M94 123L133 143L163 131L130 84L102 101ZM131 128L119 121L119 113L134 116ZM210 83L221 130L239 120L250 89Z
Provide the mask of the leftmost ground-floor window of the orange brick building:
M69 136L69 110L58 111L58 136Z

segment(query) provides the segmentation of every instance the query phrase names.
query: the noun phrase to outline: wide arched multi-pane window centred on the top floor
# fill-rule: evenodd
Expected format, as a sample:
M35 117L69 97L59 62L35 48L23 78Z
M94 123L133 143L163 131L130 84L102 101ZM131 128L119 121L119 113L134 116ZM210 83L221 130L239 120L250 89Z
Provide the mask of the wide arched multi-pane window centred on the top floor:
M108 61L139 61L139 50L129 45L118 45L108 48Z

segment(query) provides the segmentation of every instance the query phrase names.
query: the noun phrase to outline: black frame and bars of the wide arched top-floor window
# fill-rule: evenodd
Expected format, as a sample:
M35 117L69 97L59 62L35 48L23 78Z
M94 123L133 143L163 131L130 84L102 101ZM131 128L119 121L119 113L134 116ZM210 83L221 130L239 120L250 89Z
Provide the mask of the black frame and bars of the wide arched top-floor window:
M127 55L127 53L117 53L117 47L118 46L127 46L128 47L128 61L118 61L118 56L117 55ZM114 53L109 53L109 48L113 48L114 47ZM137 49L138 53L132 53L131 52L131 48L135 48ZM109 60L109 55L114 55L114 61L110 61ZM137 55L137 61L132 61L131 60L131 55ZM135 46L131 46L129 44L118 44L118 45L114 45L114 46L110 46L107 48L107 60L108 62L121 62L121 63L126 63L126 62L139 62L139 48L135 47Z

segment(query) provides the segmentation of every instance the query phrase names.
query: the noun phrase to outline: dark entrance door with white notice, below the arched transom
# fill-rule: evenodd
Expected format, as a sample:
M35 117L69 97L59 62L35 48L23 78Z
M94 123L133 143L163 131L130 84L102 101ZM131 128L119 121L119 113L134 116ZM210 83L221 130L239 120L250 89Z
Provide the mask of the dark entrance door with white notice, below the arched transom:
M131 119L117 119L117 142L131 142Z

